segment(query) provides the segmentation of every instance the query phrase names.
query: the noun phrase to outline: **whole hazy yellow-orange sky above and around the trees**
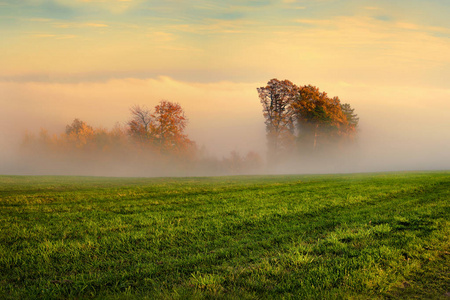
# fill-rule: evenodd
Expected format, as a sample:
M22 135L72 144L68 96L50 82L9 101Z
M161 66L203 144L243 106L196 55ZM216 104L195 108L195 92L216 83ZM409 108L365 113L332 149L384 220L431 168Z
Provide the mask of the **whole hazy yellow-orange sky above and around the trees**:
M25 130L162 99L210 151L264 154L278 78L355 108L359 170L450 168L448 0L0 0L0 37L3 160Z

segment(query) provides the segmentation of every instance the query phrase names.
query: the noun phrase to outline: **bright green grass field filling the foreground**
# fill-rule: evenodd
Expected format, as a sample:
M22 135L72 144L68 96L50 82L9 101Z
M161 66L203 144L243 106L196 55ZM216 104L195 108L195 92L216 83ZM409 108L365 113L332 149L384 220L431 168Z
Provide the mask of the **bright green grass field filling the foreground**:
M450 172L0 176L0 298L449 299Z

